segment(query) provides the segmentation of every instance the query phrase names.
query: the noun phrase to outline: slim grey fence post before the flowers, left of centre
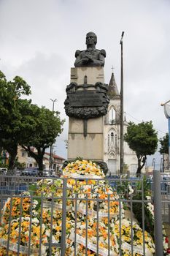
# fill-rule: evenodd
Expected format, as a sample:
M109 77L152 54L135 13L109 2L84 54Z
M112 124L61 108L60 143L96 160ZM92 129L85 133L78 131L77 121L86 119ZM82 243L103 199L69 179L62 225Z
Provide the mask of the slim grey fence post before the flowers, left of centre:
M63 178L61 256L66 254L66 178Z

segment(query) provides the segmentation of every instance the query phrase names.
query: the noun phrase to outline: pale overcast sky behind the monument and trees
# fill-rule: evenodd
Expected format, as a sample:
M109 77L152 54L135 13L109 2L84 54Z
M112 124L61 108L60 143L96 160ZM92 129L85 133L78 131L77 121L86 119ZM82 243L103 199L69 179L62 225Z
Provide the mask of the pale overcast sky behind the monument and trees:
M105 49L105 83L114 67L120 89L120 37L124 52L124 110L127 121L152 120L159 138L168 132L161 102L170 99L169 0L0 0L0 69L31 86L34 104L66 118L56 154L66 157L68 117L63 109L75 50L94 31Z

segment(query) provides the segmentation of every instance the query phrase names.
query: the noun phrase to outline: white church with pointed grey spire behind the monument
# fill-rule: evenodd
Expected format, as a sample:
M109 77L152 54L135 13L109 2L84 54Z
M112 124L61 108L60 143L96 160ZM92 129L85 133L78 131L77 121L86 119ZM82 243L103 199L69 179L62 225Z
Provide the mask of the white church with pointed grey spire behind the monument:
M109 81L109 107L104 120L104 162L112 175L120 173L120 94L117 89L114 74L112 73ZM124 119L125 134L127 121ZM128 144L124 142L124 166L125 173L136 173L137 157Z

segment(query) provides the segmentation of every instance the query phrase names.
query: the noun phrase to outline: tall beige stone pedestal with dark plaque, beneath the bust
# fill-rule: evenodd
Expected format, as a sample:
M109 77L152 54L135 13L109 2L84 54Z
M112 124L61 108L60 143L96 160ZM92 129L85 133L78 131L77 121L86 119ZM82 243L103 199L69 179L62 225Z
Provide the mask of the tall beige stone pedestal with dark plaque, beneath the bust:
M100 108L103 107L102 102L105 100L103 99L103 94L100 91L99 93L97 92L97 83L104 85L103 67L71 68L70 85L72 86L69 86L67 96L69 97L69 106L72 107L74 105L73 108L76 109L77 116L72 116L74 110L72 110L72 113L68 111L71 113L70 116L68 115L68 160L73 160L77 157L98 162L103 162L104 160L104 115L100 114L99 116L96 115L97 117L93 117L93 115L95 116L96 110L100 112ZM87 91L91 91L91 93ZM89 112L89 108L93 108L92 112L94 114L90 118L89 116L83 117L84 114L80 116L79 108L82 108L86 113Z

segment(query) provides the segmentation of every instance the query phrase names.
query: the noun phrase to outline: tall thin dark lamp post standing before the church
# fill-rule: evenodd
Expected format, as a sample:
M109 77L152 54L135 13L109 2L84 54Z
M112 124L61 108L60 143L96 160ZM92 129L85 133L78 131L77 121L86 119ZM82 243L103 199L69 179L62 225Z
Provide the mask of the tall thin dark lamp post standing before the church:
M122 32L122 36L120 39L121 45L121 76L120 76L120 174L123 173L123 158L124 158L124 151L123 151L123 35L124 31Z

